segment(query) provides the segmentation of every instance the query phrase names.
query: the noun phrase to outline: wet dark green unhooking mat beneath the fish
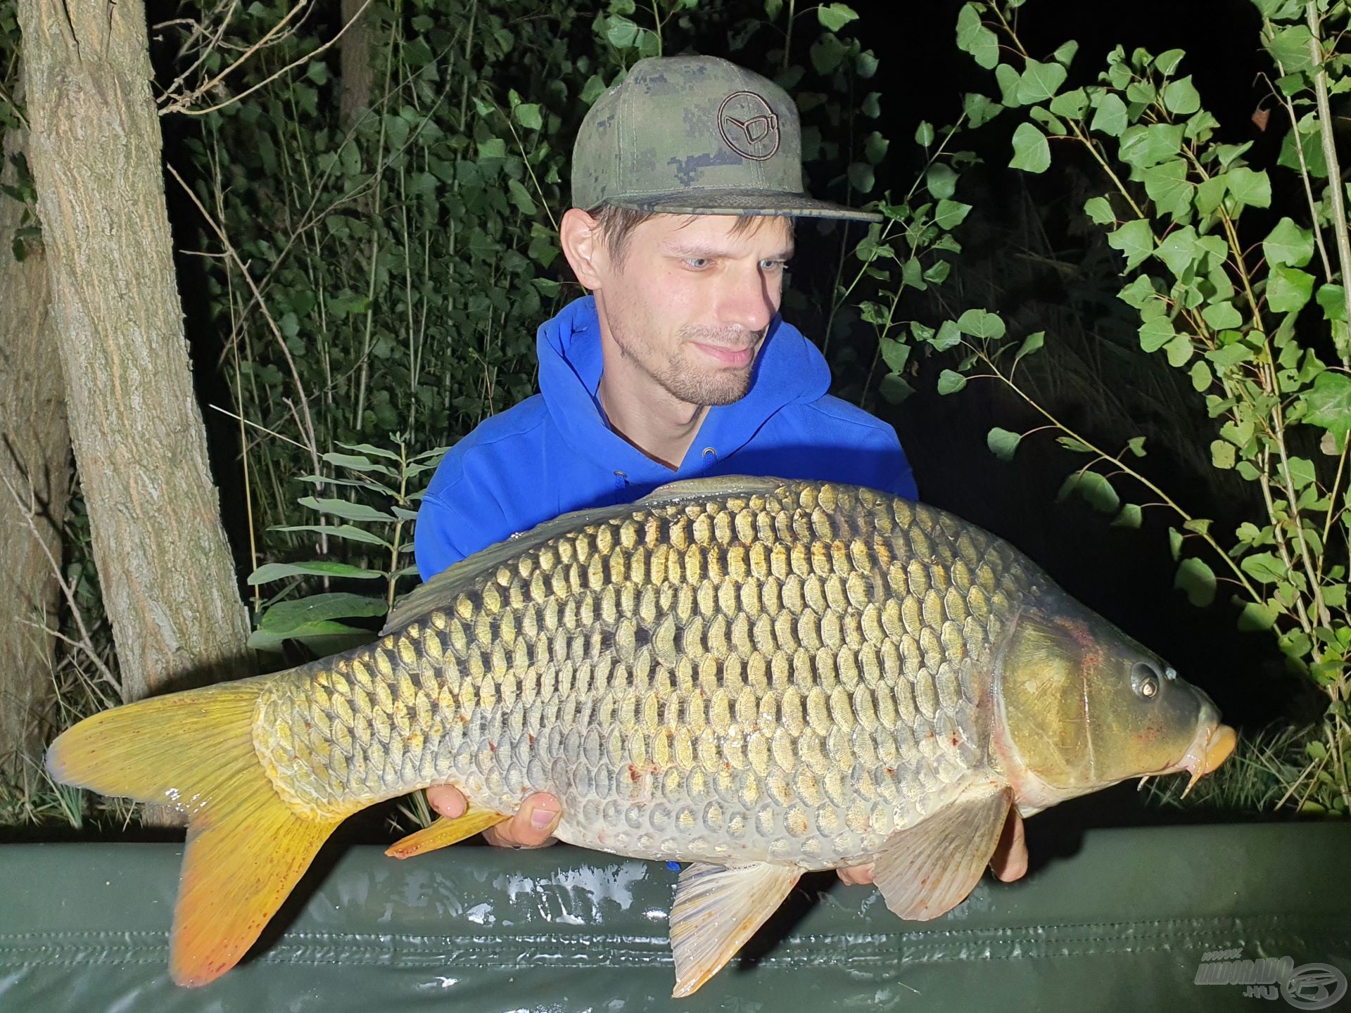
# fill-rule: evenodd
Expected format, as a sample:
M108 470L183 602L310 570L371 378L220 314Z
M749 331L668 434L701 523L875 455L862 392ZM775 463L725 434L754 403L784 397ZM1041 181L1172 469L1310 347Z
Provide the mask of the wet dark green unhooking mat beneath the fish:
M871 887L807 877L739 958L671 999L676 873L659 862L332 847L243 964L188 990L166 972L181 847L12 844L0 1010L1319 1009L1351 974L1348 825L1097 829L1066 851L923 924ZM1246 997L1260 983L1196 983L1202 964L1283 956L1297 977L1328 968L1302 991L1270 986L1274 1002ZM1323 1008L1351 1013L1351 997Z

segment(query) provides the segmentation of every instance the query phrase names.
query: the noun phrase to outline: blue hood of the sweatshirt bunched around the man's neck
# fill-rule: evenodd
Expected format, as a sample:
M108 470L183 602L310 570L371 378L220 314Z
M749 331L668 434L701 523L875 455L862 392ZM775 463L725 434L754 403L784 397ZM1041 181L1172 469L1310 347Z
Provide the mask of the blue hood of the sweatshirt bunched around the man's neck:
M751 369L746 397L708 409L698 435L677 471L648 458L609 428L596 390L603 371L600 319L596 300L569 303L540 326L539 390L563 439L601 467L623 473L634 484L666 482L698 474L709 451L725 459L759 431L781 408L816 401L831 384L821 353L792 324L775 316Z

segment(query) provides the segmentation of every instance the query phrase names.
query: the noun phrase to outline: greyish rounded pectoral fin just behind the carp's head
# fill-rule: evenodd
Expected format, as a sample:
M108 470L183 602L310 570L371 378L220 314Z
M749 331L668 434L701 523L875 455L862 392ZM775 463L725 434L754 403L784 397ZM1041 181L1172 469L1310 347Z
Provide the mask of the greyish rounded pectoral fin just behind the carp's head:
M928 921L966 900L994 854L1012 802L1006 787L967 793L888 837L873 866L886 906L902 918Z

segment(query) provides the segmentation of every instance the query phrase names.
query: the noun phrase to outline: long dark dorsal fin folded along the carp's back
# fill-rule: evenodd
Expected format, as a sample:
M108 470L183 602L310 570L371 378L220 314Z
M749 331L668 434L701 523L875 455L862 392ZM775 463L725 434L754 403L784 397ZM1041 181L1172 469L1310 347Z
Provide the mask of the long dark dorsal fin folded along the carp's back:
M477 577L489 570L496 570L508 559L534 548L551 538L557 538L566 531L580 528L586 524L623 517L636 509L651 509L667 504L685 502L688 500L727 497L727 496L765 496L774 492L784 484L782 478L755 478L748 475L724 475L719 478L686 478L681 482L667 482L658 486L636 502L621 502L613 506L592 506L585 511L561 513L553 520L546 520L530 531L512 535L505 542L497 542L474 555L451 563L446 570L432 577L426 583L413 588L404 596L403 601L389 613L385 628L380 631L384 636L392 629L399 629L430 612L449 608L459 590L471 583Z

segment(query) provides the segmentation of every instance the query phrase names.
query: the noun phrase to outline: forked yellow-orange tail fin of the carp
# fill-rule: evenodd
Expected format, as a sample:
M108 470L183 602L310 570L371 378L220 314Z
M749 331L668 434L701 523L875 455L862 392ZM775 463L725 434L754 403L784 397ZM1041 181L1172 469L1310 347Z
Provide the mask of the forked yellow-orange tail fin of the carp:
M253 717L267 678L105 710L47 751L58 781L188 814L169 944L180 985L205 985L239 962L342 821L296 813L258 762Z

